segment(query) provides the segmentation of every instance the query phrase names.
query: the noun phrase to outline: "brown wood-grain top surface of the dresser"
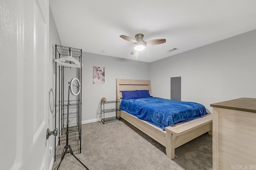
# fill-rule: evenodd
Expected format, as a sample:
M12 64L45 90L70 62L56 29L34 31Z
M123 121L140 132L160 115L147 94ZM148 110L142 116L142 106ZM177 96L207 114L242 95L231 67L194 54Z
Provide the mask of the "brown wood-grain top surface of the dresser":
M229 101L222 101L219 103L210 104L210 106L256 113L256 99L254 98L239 98Z

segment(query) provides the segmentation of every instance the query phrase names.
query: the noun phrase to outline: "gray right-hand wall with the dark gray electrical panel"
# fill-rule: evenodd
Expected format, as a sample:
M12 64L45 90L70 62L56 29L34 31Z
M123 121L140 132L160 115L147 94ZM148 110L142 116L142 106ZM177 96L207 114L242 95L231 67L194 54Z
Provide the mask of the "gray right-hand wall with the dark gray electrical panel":
M181 76L181 100L203 104L256 98L256 30L152 62L152 95L170 99L170 77Z

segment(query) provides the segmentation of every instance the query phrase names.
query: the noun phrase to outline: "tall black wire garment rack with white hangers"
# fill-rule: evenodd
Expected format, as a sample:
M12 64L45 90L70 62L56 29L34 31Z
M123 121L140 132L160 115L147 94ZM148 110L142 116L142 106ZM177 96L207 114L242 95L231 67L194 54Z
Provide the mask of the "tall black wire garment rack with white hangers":
M54 139L54 160L62 156L62 150L66 145L66 126L69 120L68 141L74 154L81 153L81 115L82 115L82 49L55 45L55 59L70 56L80 62L80 67L68 67L57 65L55 62L55 128L58 128L58 136ZM68 61L72 63L72 61ZM75 70L74 70L75 69ZM70 113L67 117L68 105L68 81L64 75L71 75L80 81L80 93L69 100ZM69 73L68 73L69 72ZM58 103L57 103L58 102ZM58 140L56 140L58 138Z

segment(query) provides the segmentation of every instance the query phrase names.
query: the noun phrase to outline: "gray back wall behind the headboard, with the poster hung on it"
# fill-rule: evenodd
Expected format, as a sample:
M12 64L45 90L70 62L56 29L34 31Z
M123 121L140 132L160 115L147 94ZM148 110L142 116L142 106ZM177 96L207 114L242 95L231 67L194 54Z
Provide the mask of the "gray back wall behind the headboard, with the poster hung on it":
M82 53L82 123L99 121L100 100L116 100L116 78L149 79L149 63ZM105 84L92 84L92 67L105 67Z

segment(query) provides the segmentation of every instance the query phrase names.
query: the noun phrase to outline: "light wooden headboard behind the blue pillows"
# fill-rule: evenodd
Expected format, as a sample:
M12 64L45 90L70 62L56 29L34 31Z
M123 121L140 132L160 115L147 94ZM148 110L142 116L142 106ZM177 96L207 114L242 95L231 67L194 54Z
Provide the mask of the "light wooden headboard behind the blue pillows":
M148 90L151 93L150 80L116 79L116 99L122 100L122 91Z

